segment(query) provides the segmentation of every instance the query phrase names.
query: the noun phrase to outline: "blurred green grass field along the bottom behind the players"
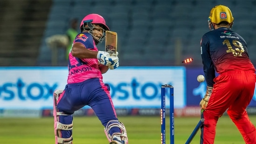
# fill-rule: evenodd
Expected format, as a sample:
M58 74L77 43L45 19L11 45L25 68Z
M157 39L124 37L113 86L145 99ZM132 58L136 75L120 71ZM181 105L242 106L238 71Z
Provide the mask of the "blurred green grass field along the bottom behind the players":
M256 125L256 116L250 116ZM160 144L160 117L119 117L125 123L129 144ZM166 119L166 126L169 126ZM175 144L185 144L198 117L175 117ZM74 144L109 144L97 117L74 117ZM170 143L166 127L166 144ZM191 144L199 144L199 134ZM53 117L0 118L1 144L54 144ZM244 144L234 123L223 116L217 123L214 144Z

